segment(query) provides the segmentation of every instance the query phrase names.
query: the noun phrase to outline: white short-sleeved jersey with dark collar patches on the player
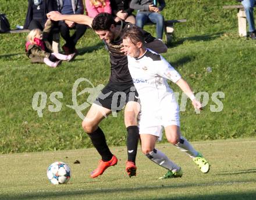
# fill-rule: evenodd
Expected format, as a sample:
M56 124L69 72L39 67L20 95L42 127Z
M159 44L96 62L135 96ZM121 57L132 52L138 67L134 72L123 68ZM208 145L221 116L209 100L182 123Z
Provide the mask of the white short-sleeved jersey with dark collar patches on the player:
M160 54L150 49L139 58L128 57L128 67L140 97L140 126L179 125L179 106L166 79L177 82L180 74ZM170 115L173 115L170 116Z

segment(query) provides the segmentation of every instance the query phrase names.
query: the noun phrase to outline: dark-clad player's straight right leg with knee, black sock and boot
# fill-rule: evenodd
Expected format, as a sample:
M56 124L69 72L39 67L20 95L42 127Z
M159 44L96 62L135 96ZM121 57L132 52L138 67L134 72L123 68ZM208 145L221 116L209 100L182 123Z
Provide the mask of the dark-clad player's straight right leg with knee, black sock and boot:
M126 172L129 177L136 176L136 155L138 148L138 133L137 116L140 112L140 104L135 101L129 101L125 107L125 125L127 129L127 154Z

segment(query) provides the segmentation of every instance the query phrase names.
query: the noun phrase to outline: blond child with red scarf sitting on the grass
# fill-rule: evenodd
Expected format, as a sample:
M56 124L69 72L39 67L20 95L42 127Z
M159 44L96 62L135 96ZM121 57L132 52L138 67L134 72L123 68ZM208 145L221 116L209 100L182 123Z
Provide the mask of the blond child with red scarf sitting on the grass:
M26 54L31 59L31 63L45 63L49 67L57 67L62 60L73 59L74 53L63 55L53 52L51 44L47 41L51 27L52 21L48 20L44 31L36 28L27 35Z

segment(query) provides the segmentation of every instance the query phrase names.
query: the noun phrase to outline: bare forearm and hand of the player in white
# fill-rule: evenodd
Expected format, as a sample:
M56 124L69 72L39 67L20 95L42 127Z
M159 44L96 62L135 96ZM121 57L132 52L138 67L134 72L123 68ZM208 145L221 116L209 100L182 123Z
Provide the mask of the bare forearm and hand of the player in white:
M176 84L189 97L189 99L192 101L192 104L193 104L194 108L198 109L198 110L202 110L202 104L200 103L200 101L195 99L194 93L191 90L189 84L183 78L180 78L176 82Z

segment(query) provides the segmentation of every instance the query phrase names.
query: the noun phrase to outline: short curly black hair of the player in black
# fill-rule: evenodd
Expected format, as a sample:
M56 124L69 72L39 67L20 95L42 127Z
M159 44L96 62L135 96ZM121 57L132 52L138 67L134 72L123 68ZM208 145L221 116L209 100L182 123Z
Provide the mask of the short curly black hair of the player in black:
M94 31L107 31L112 24L116 25L116 22L111 14L99 13L93 19L92 28Z

